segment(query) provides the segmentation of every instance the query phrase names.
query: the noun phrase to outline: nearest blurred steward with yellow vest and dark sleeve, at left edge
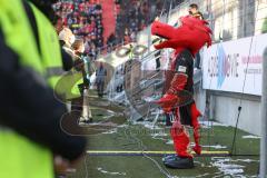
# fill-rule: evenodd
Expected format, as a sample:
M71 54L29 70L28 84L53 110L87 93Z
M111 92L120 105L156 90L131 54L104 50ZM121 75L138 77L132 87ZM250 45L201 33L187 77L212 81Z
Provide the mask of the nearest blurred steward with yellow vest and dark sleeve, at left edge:
M86 141L60 128L66 108L44 80L21 0L0 0L0 177L52 178L53 155L72 161Z

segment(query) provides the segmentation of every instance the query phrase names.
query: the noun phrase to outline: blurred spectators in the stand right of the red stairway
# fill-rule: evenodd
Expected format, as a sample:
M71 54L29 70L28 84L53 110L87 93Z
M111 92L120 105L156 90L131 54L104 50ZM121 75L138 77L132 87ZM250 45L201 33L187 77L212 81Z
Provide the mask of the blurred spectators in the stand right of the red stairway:
M172 7L184 0L172 1ZM136 41L137 32L148 27L156 17L166 12L170 1L164 0L115 0L117 6L117 43Z

